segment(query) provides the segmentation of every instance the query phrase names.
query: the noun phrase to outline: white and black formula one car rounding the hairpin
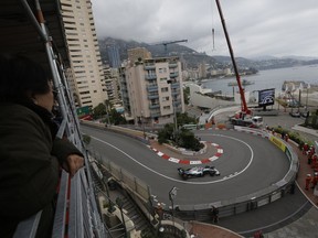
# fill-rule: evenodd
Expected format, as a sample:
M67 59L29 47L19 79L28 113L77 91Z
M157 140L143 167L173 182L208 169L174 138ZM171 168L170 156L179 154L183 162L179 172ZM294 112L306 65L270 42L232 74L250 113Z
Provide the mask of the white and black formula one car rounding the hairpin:
M210 174L210 176L220 176L220 172L214 167L214 166L195 166L195 167L190 167L190 169L178 169L179 175L183 178L187 180L189 177L200 177L204 176L205 174Z

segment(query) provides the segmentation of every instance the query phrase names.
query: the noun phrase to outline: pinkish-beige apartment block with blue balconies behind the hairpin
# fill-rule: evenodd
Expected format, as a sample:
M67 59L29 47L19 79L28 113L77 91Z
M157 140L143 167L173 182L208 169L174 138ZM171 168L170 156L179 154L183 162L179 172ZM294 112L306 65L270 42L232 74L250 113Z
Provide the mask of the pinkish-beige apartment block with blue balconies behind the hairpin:
M184 112L179 57L144 58L125 68L121 84L125 112L135 123L173 122L174 112ZM128 105L127 105L128 104Z

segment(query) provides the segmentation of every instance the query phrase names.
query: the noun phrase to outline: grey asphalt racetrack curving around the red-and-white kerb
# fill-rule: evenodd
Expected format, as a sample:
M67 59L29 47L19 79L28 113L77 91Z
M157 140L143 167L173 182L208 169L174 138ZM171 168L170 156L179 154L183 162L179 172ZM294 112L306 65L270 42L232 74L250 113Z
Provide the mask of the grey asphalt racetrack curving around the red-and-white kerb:
M289 169L285 153L269 140L233 130L199 130L202 141L220 144L223 154L210 163L221 176L182 180L177 169L192 167L163 160L144 143L110 131L81 126L92 137L88 150L102 160L113 161L123 170L147 183L158 202L170 204L169 191L176 186L176 205L195 206L220 201L233 201L280 181Z

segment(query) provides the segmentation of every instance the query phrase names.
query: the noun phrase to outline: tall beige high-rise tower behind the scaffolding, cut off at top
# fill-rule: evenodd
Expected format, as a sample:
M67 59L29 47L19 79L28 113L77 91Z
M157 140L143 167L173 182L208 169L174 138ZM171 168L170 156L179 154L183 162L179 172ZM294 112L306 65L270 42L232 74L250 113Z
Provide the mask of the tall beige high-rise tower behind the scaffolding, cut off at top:
M66 74L76 107L96 107L108 98L89 0L60 0L70 51Z

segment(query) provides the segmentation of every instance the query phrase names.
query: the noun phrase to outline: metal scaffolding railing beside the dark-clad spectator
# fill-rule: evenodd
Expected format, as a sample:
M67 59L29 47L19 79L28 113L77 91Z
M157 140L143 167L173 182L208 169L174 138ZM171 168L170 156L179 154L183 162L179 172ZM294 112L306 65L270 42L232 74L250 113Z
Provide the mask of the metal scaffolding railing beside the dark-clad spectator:
M45 15L42 15L40 1L34 0L36 9L32 9L33 6L29 6L26 0L20 0L20 3L23 6L25 14L28 14L30 22L38 30L36 32L43 42L53 76L53 83L59 90L57 101L62 115L62 122L57 137L62 138L66 136L85 155L85 167L80 170L73 178L71 178L65 171L62 172L52 237L110 237L107 228L103 224L96 204L95 188L91 176L91 165L82 142L80 122L64 74L63 61L59 52L56 52L56 48L53 47L54 42L52 42L52 37L49 34L50 29L47 29L44 23ZM60 9L57 2L55 8ZM43 18L36 18L33 12L38 12ZM14 238L35 237L41 213L42 212L39 212L36 215L21 221L15 230Z

